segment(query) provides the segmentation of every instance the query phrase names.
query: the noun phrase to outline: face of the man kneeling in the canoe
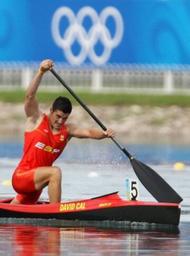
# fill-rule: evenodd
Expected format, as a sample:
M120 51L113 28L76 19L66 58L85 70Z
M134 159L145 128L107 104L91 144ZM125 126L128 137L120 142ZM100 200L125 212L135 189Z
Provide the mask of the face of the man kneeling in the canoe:
M61 110L50 109L50 125L55 129L60 129L61 126L67 121L69 113L64 113Z

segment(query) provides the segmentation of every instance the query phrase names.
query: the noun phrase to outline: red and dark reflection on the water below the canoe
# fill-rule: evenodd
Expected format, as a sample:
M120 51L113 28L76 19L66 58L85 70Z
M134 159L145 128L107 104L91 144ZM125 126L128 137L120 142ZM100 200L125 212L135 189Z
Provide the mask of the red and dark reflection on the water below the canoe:
M16 255L138 255L179 250L174 229L0 225L0 250Z

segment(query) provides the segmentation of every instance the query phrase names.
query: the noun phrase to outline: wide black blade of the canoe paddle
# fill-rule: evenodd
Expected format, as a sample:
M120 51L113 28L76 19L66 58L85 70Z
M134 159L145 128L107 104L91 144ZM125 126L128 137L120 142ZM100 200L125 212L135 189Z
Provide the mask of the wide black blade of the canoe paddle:
M160 203L181 203L183 198L153 169L135 158L130 160L140 182Z

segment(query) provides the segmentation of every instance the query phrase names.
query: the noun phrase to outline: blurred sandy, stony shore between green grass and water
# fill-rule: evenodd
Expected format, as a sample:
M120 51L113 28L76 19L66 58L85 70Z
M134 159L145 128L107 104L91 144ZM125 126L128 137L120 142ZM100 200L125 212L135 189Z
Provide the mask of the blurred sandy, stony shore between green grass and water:
M40 105L44 112L49 112L48 105ZM141 107L132 106L89 106L92 112L107 127L113 128L117 135L128 138L169 137L184 138L190 142L190 108ZM25 128L25 113L23 103L0 102L0 132L7 134L22 134ZM74 106L70 122L82 127L97 126L96 122L81 107Z

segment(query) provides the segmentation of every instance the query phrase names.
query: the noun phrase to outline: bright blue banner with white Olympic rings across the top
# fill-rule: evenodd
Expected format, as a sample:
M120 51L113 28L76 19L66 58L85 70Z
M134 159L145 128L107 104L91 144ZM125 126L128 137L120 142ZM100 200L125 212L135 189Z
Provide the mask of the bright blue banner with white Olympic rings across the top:
M0 61L189 64L188 0L1 0Z

